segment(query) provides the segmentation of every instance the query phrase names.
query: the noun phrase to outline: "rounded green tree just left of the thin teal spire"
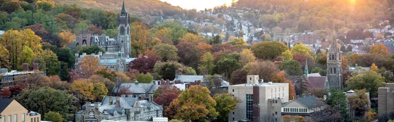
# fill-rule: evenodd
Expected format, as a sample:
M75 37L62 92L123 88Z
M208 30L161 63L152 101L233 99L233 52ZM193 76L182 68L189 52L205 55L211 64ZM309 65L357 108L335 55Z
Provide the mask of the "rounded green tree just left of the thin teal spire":
M287 74L292 76L299 76L303 74L301 64L296 60L282 62L279 64L279 69L286 71Z

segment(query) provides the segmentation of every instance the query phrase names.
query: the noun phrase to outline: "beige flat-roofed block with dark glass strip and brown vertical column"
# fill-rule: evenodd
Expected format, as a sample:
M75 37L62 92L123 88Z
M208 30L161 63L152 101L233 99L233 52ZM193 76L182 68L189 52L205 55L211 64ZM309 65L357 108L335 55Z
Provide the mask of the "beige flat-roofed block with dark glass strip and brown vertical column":
M264 83L258 75L248 75L246 84L229 86L229 93L240 99L237 108L229 114L229 121L264 119L282 121L281 104L288 101L288 83Z

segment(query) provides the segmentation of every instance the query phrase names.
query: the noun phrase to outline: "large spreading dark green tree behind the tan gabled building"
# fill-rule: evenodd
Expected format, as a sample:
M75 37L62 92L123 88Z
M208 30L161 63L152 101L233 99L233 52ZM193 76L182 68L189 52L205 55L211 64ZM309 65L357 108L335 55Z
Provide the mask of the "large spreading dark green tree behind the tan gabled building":
M77 99L71 94L55 90L50 87L42 87L40 89L23 89L22 92L14 97L22 106L31 111L41 113L45 117L45 113L49 111L60 113L63 120L71 117L74 113ZM67 110L67 111L65 111Z

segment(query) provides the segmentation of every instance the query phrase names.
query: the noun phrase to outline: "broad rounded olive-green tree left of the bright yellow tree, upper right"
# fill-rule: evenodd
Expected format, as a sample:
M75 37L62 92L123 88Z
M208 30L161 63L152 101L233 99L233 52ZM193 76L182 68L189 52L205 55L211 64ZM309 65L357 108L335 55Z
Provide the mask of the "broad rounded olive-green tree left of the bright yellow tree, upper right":
M264 60L271 60L282 54L284 51L287 50L287 46L285 46L281 42L258 42L253 44L251 47L251 51L255 53L256 58L264 59Z

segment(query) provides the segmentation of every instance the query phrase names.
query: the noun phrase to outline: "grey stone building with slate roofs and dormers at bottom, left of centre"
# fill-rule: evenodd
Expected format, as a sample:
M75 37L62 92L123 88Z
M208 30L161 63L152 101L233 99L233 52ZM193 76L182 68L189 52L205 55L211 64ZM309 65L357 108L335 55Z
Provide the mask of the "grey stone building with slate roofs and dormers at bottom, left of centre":
M113 121L147 121L150 118L162 117L163 107L149 100L138 100L137 97L121 95L121 97L104 97L102 102L86 102L82 110L75 113L76 122Z

